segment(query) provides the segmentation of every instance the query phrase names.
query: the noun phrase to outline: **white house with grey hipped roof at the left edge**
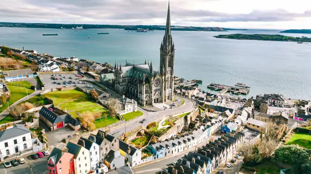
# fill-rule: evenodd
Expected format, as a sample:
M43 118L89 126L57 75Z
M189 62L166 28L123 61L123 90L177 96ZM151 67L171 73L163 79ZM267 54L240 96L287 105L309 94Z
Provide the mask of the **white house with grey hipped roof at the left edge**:
M0 161L4 157L22 153L33 148L30 130L22 124L7 126L0 132Z

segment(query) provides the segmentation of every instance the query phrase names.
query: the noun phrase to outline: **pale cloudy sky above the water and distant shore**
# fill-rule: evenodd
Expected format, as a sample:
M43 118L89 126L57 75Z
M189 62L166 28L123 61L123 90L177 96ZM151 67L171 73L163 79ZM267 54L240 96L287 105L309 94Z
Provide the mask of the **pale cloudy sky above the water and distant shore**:
M167 0L1 0L0 22L165 25ZM311 29L310 0L170 0L171 25Z

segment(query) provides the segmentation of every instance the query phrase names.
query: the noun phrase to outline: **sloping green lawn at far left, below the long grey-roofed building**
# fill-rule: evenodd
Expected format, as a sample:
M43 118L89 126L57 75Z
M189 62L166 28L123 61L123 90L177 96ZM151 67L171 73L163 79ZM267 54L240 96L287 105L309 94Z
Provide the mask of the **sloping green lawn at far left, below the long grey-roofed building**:
M9 106L11 106L13 103L18 101L19 99L24 98L24 97L27 96L26 88L21 87L21 86L14 86L14 85L7 85L7 86L8 86L8 88L11 91L11 98L10 98L10 101L9 101ZM28 92L28 95L29 95L29 94L32 94L34 91L27 89L27 92ZM2 111L4 111L6 108L8 108L8 104L7 103L3 104L2 107L0 107L0 113Z

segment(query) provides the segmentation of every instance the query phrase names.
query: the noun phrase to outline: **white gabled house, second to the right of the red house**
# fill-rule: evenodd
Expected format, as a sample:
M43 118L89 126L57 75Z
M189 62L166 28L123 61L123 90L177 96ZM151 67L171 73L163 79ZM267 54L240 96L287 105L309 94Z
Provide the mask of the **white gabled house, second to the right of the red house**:
M80 138L78 145L89 151L89 161L91 168L96 169L97 164L100 162L100 146L95 142L85 138Z

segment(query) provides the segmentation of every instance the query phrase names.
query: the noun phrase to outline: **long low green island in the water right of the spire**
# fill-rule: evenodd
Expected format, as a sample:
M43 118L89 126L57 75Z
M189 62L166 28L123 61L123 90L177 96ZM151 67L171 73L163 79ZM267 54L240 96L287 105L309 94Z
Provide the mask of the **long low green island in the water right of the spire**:
M271 40L271 41L296 41L311 42L309 37L291 37L279 34L227 34L227 35L217 35L216 38L230 38L230 39L240 39L240 40Z

